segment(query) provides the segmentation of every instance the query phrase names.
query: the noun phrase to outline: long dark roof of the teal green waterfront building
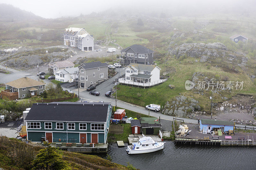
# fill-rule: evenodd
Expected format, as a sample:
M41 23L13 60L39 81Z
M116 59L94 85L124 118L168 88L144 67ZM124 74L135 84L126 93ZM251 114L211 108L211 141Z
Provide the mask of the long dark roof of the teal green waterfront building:
M34 103L31 109L29 110L25 120L63 122L106 122L109 104L110 103L101 102Z

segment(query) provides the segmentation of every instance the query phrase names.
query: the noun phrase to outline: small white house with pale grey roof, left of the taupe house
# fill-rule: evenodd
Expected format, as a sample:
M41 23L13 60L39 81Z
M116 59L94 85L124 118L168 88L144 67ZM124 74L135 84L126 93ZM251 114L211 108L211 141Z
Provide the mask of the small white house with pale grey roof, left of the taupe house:
M78 78L78 67L65 68L62 70L56 71L55 80L62 82L73 82L75 78Z

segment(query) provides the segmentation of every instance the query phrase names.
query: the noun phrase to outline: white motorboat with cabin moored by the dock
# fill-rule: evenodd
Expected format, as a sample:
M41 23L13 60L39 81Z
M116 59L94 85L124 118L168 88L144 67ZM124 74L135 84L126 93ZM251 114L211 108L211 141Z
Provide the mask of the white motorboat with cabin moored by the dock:
M128 154L137 154L137 153L149 153L161 150L164 148L164 142L155 142L151 137L140 138L137 143L127 146Z

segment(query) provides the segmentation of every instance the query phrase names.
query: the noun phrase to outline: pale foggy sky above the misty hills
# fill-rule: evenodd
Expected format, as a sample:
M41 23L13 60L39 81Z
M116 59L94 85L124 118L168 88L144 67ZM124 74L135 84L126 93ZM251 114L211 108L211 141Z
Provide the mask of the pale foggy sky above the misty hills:
M255 11L256 0L0 0L21 10L31 11L43 18L74 17L108 9L131 11L164 11L178 15L188 12L214 12L221 9L227 12ZM234 8L236 8L234 10ZM136 15L136 14L135 14Z

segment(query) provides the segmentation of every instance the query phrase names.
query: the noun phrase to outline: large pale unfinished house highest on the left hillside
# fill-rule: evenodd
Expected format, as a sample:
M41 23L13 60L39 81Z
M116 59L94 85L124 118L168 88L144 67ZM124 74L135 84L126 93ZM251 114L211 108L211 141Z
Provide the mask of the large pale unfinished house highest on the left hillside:
M94 39L84 28L66 28L63 37L65 46L77 47L82 51L93 50Z

